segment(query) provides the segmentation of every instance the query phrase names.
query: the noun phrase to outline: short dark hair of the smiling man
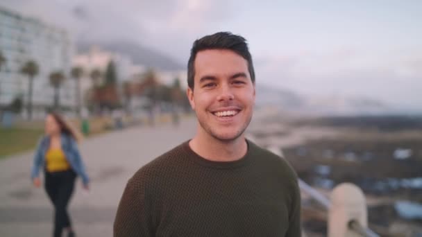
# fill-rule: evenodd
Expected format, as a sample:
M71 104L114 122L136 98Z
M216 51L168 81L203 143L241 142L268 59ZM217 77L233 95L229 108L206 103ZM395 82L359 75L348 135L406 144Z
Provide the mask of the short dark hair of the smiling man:
M195 40L190 51L189 61L187 62L187 85L194 89L195 67L194 62L196 54L199 51L207 49L228 49L242 56L248 62L248 71L251 80L255 83L255 71L253 70L252 56L249 53L248 44L244 37L233 35L230 32L218 32L213 35L206 35L199 40Z

